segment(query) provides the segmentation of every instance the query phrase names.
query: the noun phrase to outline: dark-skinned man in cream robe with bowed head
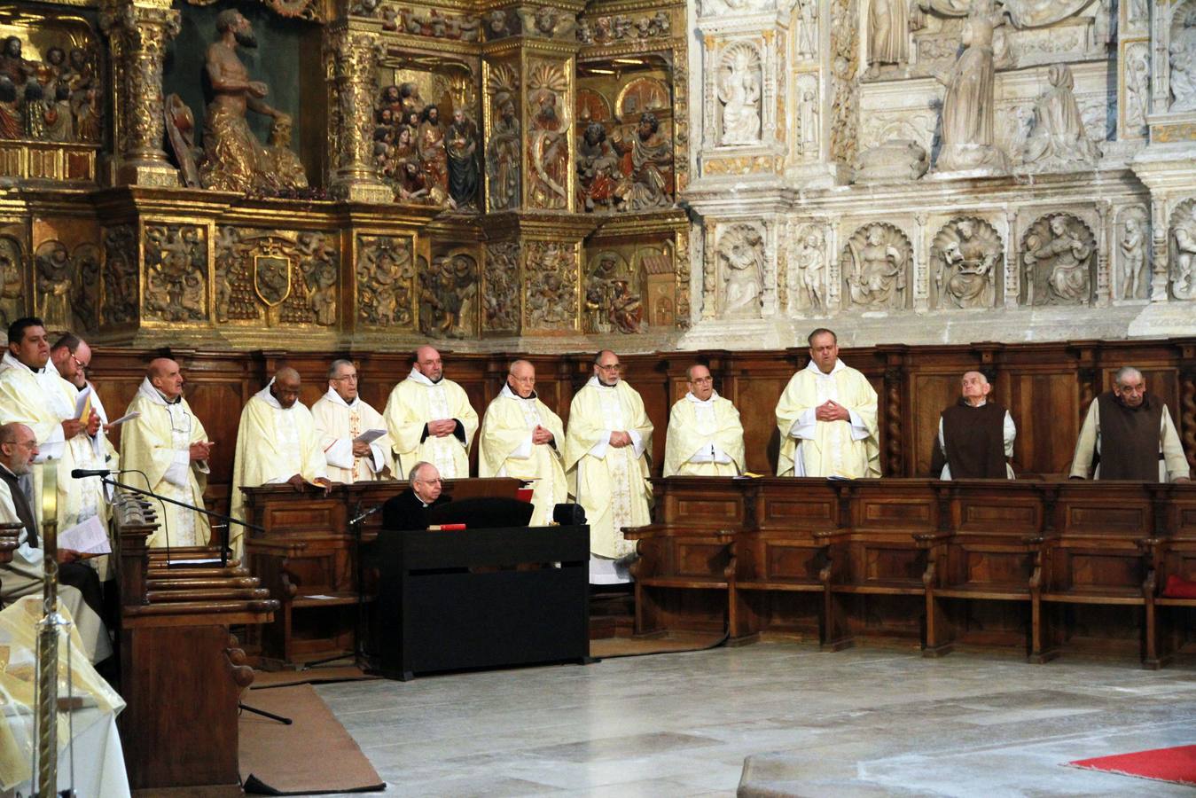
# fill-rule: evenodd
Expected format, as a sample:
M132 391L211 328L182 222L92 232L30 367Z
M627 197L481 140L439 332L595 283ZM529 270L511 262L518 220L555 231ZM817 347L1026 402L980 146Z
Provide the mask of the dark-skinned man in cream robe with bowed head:
M311 410L299 403L299 372L282 367L250 397L237 427L237 456L232 469L232 517L246 520L242 488L287 483L301 491L304 482L328 491L324 450L316 434ZM228 529L233 555L244 548L243 528Z

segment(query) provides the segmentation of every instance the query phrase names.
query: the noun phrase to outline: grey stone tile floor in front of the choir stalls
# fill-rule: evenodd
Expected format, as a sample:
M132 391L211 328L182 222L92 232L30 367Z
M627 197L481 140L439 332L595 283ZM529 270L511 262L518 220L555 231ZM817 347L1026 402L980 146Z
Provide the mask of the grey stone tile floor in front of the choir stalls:
M1064 767L1196 743L1191 668L763 642L318 690L389 796L1196 792Z

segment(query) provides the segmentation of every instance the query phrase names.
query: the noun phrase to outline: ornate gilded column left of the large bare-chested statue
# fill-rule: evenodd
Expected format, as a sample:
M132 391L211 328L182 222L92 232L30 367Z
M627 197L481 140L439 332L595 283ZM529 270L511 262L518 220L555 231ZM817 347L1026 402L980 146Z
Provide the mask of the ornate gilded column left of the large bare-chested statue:
M100 11L99 26L112 53L120 185L178 185L178 170L161 148L161 63L166 42L179 31L178 12L170 5L170 0L109 0Z

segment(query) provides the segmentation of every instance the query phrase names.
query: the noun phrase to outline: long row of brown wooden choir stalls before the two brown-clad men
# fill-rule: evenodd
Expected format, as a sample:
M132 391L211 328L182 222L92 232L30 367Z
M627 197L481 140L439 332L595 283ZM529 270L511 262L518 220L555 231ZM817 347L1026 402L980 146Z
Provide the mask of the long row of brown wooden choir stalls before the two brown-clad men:
M627 530L636 632L726 628L1005 646L1043 663L1121 653L1159 668L1196 644L1196 485L885 479L653 480Z

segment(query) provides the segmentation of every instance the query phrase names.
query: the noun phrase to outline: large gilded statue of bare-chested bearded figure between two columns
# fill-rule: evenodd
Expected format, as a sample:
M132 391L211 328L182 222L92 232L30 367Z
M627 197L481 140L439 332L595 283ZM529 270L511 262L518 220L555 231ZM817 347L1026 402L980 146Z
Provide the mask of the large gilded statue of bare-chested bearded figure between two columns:
M277 117L282 111L263 102L264 83L249 79L249 69L237 56L237 48L255 48L257 38L239 11L226 8L216 14L216 39L208 47L207 74L212 102L203 120L203 188L218 191L274 194L282 188L274 172L274 159L249 128L245 111Z

